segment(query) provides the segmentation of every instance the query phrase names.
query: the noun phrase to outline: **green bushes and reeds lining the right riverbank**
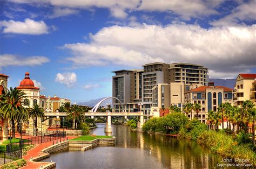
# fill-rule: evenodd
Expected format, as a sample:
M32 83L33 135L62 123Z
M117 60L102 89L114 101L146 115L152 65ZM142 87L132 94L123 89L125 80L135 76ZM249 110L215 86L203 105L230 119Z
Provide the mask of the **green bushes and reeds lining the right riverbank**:
M197 118L189 121L184 114L173 112L164 117L149 119L144 123L143 131L178 134L181 138L196 141L225 158L248 159L249 164L256 166L256 153L252 139L242 130L238 134L230 129L209 130L207 125Z

